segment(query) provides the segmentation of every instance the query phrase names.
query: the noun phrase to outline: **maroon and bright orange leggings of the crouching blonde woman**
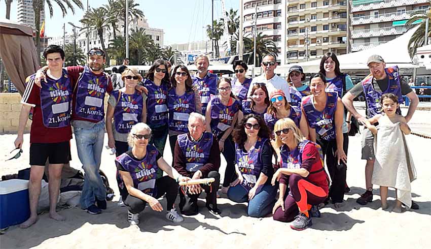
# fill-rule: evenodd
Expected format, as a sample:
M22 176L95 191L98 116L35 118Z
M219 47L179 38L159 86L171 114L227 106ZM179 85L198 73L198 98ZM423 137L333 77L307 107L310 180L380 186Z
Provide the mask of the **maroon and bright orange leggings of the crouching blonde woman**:
M291 222L300 211L308 213L311 205L324 202L328 196L324 189L298 174L289 176L289 187L290 193L284 197L284 211L278 207L272 216L276 221Z

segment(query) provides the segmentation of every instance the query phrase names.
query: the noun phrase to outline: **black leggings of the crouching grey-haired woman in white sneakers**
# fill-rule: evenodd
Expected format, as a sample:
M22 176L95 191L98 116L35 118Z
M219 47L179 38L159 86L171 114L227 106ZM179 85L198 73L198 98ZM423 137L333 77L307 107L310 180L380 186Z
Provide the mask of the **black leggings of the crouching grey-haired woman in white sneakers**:
M158 199L166 194L166 211L171 210L175 203L176 195L178 194L178 183L169 176L163 176L162 178L156 179L155 188L157 188L157 195L154 198ZM131 213L140 213L147 205L146 201L132 195L126 195L125 193L123 193L123 201Z

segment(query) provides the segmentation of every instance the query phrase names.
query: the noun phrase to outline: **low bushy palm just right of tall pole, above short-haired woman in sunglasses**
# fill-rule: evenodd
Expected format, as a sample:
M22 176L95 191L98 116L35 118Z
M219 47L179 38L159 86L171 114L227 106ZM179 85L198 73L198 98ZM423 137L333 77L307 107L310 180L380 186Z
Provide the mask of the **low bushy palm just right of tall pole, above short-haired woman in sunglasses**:
M132 29L132 33L130 34L130 50L133 56L130 63L141 65L143 61L145 61L144 55L150 50L153 50L154 47L154 41L151 39L150 35L145 33L145 28L136 27L135 29Z

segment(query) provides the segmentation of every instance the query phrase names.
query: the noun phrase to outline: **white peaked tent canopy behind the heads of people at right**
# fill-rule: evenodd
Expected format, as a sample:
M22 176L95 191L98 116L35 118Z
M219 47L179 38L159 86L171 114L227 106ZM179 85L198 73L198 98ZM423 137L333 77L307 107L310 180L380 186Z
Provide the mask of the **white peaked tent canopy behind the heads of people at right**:
M338 55L340 61L340 69L347 70L363 70L368 69L367 59L372 54L379 54L383 57L387 66L397 65L399 68L418 68L412 63L407 45L416 28L410 29L400 37L393 39L387 43L380 44L376 47L365 49L349 54ZM288 64L278 66L275 69L277 74L287 74L289 68L293 65L300 65L305 73L316 73L319 71L320 59L305 61L303 63Z

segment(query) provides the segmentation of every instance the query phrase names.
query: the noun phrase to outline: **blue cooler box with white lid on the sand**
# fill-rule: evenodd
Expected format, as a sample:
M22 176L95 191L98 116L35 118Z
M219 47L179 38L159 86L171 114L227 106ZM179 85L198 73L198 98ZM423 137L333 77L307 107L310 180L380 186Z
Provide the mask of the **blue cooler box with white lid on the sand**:
M30 217L28 181L0 181L0 229L25 222Z

